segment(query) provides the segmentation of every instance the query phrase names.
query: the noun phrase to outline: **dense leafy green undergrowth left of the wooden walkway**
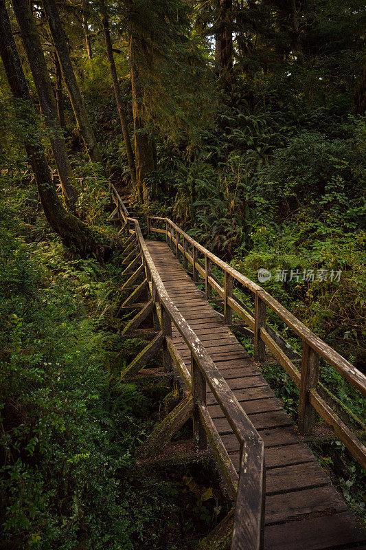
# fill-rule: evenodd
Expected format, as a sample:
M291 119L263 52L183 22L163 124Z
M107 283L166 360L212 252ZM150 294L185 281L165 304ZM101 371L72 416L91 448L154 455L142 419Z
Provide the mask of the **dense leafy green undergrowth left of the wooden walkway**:
M29 178L1 183L0 547L193 548L223 505L202 467L135 466L171 388L119 382L144 344L122 342L113 317L120 256L73 258L34 210Z

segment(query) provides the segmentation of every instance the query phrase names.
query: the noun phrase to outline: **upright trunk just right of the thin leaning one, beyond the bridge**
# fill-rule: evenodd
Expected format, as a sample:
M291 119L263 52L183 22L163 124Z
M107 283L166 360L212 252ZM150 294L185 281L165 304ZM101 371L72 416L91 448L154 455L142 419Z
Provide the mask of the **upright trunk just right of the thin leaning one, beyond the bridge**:
M155 168L154 147L146 130L142 113L144 93L139 83L139 71L135 55L135 45L130 37L128 46L130 61L132 101L133 101L133 126L135 129L135 161L136 161L136 187L139 201L148 200L146 179Z

